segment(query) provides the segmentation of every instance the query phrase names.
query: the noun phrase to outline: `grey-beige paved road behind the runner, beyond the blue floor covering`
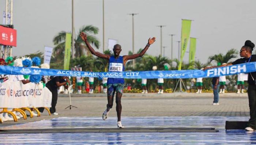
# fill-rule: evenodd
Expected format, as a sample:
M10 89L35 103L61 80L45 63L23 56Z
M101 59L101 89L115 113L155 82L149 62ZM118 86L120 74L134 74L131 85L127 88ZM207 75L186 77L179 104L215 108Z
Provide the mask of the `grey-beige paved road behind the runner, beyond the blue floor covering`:
M19 119L18 123L34 122L56 117L99 117L106 108L106 94L71 94L72 105L78 108L69 108L69 97L60 94L57 102L59 115L49 116L43 112L41 117ZM170 93L170 94L124 94L122 98L122 116L125 117L158 117L158 116L249 116L247 94L226 93L220 94L220 105L211 105L212 93ZM116 104L109 116L116 117ZM1 125L14 125L17 122L8 121Z

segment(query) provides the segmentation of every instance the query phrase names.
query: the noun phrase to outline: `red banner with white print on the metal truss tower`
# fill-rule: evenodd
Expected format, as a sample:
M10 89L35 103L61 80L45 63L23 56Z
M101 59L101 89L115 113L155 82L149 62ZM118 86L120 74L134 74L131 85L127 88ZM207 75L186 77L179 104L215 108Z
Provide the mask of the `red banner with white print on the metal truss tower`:
M12 28L0 26L0 44L8 46L17 46L17 31Z

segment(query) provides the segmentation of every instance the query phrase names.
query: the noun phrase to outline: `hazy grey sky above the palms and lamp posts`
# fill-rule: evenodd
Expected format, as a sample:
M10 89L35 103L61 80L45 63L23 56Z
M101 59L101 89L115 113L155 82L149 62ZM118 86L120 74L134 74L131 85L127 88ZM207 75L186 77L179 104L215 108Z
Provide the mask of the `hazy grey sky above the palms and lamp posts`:
M74 27L93 25L99 28L94 35L103 40L103 0L74 0ZM17 47L14 56L23 56L44 46L53 45L53 37L60 31L71 32L71 0L14 0L13 24L17 30ZM231 49L240 50L246 40L256 43L255 0L104 0L105 49L108 39L117 39L122 46L121 55L132 51L132 16L134 16L135 52L144 48L148 38L156 37L147 53L160 54L160 28L164 56L171 58L171 36L173 36L173 58L178 58L178 42L181 39L181 19L193 20L190 37L197 38L196 60L207 62L208 57ZM5 0L0 0L0 12L5 11ZM0 20L3 16L0 15ZM189 45L187 47L189 51ZM184 61L188 62L188 53Z

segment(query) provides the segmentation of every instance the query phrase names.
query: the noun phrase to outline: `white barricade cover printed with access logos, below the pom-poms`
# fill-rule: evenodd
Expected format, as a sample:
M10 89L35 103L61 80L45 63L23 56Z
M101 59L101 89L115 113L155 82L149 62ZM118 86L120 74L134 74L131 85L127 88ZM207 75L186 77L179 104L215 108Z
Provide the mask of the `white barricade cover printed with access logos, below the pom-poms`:
M0 88L0 108L51 107L52 92L35 83L5 81Z

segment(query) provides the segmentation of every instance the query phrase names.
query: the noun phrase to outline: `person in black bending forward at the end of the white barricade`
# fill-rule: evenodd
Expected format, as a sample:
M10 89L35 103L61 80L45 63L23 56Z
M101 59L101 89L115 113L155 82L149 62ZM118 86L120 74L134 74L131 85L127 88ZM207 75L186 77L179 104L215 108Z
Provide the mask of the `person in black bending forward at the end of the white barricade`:
M66 89L68 89L67 84L70 84L70 81L69 81L68 77L66 77L66 76L55 76L55 77L53 77L53 79L48 81L48 83L46 83L46 87L52 92L52 107L50 108L50 113L53 115L58 115L58 113L56 112L56 108L55 108L55 106L57 104L57 99L58 99L57 88L64 85L64 87ZM40 112L43 112L44 108L38 108L38 110Z

